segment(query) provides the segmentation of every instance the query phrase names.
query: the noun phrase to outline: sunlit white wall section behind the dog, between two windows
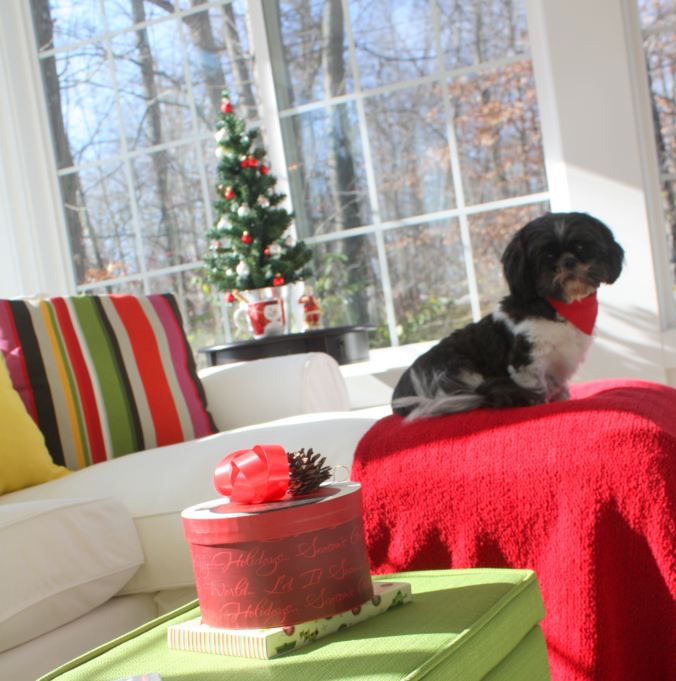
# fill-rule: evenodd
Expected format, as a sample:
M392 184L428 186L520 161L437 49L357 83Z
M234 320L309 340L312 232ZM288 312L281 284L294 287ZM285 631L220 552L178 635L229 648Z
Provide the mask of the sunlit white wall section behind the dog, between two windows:
M595 215L626 253L578 378L666 381L673 297L636 2L526 6L552 209Z

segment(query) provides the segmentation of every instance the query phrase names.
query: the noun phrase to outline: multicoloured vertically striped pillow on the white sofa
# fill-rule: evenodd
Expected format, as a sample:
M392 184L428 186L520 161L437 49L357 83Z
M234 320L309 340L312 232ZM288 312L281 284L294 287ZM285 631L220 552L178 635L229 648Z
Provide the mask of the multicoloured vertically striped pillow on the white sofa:
M0 350L72 470L216 432L171 294L0 300Z

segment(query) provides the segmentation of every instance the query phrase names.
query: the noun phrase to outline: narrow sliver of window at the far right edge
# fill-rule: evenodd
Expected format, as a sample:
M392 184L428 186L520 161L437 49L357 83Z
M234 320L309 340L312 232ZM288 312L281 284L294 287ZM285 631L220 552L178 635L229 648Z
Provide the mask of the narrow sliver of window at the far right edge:
M676 4L673 0L639 0L638 4L676 291Z

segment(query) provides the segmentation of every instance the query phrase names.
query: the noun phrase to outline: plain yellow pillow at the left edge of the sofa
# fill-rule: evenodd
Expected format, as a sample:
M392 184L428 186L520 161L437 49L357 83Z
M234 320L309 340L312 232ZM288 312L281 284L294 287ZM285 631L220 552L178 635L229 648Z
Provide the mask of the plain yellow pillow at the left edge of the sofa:
M57 466L45 438L14 390L0 352L0 494L39 485L70 471Z

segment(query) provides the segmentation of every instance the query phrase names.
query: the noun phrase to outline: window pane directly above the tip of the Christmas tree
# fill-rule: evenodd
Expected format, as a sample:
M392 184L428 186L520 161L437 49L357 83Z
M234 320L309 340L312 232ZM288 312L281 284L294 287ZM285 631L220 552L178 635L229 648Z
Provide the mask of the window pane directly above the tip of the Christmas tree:
M184 27L200 130L212 130L216 125L225 86L230 90L237 114L249 121L257 119L253 57L244 2L189 15Z

